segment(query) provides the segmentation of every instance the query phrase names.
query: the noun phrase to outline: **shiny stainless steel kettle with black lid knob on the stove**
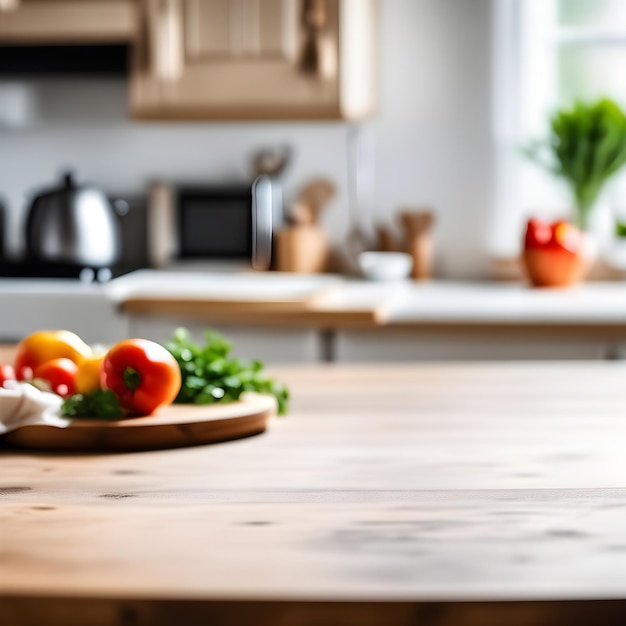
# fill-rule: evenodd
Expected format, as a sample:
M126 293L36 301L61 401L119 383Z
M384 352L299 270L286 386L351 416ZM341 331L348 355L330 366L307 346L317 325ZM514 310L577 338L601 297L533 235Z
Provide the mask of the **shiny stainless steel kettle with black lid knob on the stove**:
M60 187L36 196L26 222L29 260L107 267L119 260L117 215L100 190L66 174Z

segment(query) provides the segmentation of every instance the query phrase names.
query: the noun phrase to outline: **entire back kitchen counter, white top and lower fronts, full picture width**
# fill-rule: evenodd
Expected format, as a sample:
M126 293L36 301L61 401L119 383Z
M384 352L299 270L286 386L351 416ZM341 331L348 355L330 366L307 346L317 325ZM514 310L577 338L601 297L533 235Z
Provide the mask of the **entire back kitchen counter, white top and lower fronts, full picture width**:
M0 341L41 327L71 328L90 342L129 334L162 341L176 326L196 334L213 326L235 333L243 356L274 362L606 358L621 356L626 346L626 283L617 281L539 290L141 270L102 285L0 280L0 297ZM432 350L414 349L433 341Z

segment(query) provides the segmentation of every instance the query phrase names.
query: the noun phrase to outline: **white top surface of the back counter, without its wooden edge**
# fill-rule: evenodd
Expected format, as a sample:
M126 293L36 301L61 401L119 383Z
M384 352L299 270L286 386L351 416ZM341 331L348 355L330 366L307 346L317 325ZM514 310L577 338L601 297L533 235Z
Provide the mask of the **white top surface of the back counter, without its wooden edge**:
M110 283L117 301L131 296L199 299L247 298L251 302L326 295L322 311L376 308L390 324L626 323L626 283L583 283L568 289L533 289L522 283L372 282L330 275L209 273L142 270Z

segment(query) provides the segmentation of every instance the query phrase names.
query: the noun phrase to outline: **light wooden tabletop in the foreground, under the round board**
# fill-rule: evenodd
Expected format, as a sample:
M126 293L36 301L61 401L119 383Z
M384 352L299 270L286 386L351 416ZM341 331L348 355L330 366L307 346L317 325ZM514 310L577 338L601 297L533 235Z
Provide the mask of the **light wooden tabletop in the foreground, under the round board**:
M258 437L0 449L0 623L624 623L626 365L273 373Z

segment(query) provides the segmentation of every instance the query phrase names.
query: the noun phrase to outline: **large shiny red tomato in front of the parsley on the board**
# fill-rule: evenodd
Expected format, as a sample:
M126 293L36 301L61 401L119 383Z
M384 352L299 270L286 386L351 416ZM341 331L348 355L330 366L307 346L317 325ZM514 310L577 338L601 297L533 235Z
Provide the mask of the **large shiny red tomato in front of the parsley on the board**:
M115 393L123 408L150 415L174 401L181 374L176 359L163 346L147 339L126 339L106 353L100 382Z

